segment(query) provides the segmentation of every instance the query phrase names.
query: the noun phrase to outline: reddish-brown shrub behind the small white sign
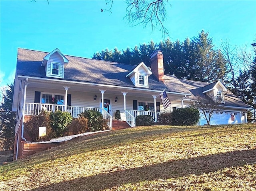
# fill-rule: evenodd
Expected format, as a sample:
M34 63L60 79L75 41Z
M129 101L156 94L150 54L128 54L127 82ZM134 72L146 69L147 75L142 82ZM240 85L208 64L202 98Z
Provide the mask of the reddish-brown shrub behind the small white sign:
M39 139L39 127L46 127L46 136ZM41 111L39 115L33 115L24 123L24 130L28 133L32 141L50 140L55 137L50 126L50 112Z

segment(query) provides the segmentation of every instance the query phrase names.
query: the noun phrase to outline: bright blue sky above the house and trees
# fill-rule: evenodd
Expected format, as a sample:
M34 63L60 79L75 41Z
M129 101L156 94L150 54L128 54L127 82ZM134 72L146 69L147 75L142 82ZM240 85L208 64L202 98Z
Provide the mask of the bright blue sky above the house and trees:
M256 1L183 1L167 7L164 26L170 39L183 41L201 30L209 31L216 46L222 40L243 47L256 38ZM102 49L133 48L141 43L163 40L162 32L123 20L126 4L114 0L112 14L103 1L0 1L0 87L14 79L17 48L92 57Z

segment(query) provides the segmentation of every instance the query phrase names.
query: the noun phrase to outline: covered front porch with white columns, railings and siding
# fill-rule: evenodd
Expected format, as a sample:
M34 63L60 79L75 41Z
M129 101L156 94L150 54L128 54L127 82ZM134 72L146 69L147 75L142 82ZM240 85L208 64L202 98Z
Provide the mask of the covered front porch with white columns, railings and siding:
M115 120L116 110L120 110L121 120L131 127L136 126L135 119L138 115L150 115L157 122L160 113L166 112L158 96L161 91L148 89L117 88L110 85L97 87L77 83L48 85L41 81L29 81L25 91L22 108L24 115L38 115L41 110L61 110L70 112L73 118L77 118L85 110L97 110L108 120L110 128L112 120ZM184 94L168 93L168 97L172 103L176 102L174 106L182 106ZM144 106L148 106L149 110L144 110ZM168 110L172 111L172 107Z

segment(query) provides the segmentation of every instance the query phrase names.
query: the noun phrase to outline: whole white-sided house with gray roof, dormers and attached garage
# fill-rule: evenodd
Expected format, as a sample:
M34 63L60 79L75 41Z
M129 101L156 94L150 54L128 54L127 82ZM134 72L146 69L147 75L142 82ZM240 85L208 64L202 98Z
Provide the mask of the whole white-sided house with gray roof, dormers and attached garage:
M162 51L155 51L150 59L149 68L143 62L127 65L63 55L58 49L47 53L19 48L12 108L17 112L15 150L18 152L19 142L26 141L25 117L42 109L68 111L73 118L87 109L98 110L109 120L110 128L116 110L131 127L142 114L157 122L165 111L158 96L164 89L172 103L169 111L189 106L195 96L211 93L214 99L223 100L224 108L212 116L210 124L247 122L249 107L219 81L209 84L164 75ZM149 111L144 111L145 105ZM206 120L202 117L199 124Z

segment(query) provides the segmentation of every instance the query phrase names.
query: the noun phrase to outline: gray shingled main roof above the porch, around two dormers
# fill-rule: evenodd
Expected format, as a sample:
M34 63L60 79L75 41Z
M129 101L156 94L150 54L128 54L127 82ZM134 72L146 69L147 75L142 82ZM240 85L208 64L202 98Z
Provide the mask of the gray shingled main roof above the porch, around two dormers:
M47 52L19 48L17 74L54 79L46 77L45 69L41 66L42 60L47 54ZM69 63L65 68L63 80L134 87L134 84L126 75L136 67L135 65L68 55L65 55L65 57L69 60ZM154 75L150 75L148 79L149 89L160 91L166 89L166 91L190 94L190 91L172 75L165 75L164 83L158 82Z

